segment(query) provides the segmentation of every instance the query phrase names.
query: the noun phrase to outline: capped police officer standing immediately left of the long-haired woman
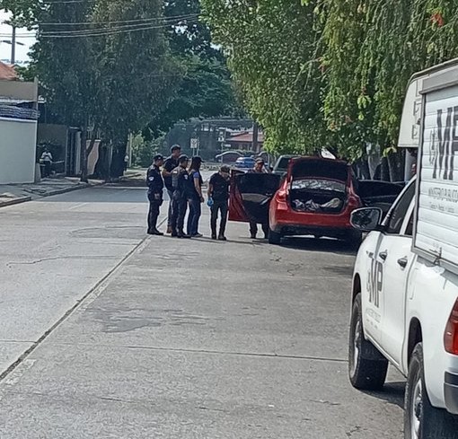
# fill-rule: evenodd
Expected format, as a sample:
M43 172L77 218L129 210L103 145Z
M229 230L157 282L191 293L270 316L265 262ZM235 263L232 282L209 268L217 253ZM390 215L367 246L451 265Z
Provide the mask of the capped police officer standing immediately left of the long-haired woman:
M184 217L188 207L188 198L190 192L188 163L189 158L181 154L178 159L178 166L172 171L172 236L178 238L190 238L183 232Z

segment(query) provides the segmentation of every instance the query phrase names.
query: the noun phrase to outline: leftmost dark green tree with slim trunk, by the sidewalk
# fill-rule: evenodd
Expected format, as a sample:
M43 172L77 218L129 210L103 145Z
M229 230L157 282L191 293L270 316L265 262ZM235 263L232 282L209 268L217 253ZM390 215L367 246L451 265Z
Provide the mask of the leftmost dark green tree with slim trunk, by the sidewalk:
M54 2L34 9L34 21L40 23L38 42L32 50L32 64L48 104L67 125L82 130L82 180L87 180L86 133L95 118L97 101L96 68L92 63L92 40L61 36L61 29L75 30L78 22L87 22L93 2ZM51 24L52 23L52 24ZM54 23L68 23L66 28ZM72 40L72 42L70 42Z

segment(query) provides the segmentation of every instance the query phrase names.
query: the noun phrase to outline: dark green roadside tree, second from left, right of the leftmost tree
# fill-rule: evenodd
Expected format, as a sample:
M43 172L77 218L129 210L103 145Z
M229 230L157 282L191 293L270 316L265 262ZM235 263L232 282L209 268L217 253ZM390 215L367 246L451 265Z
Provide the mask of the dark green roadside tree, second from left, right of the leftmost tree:
M99 0L93 22L138 21L162 18L160 0ZM161 20L141 31L112 33L92 43L98 69L97 120L105 143L113 145L111 174L122 174L129 132L138 132L166 108L181 66L170 56Z

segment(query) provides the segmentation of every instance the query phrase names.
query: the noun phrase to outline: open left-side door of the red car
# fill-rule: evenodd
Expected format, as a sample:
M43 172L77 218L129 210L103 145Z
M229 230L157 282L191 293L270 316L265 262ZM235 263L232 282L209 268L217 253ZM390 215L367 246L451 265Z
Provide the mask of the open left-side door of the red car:
M267 223L270 200L277 192L279 183L280 176L275 174L233 171L229 220Z

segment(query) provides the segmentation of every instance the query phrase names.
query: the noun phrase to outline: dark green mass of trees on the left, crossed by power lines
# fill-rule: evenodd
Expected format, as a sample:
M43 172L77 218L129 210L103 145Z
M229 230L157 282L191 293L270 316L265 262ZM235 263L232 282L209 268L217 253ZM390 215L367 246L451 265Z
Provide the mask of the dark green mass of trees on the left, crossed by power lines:
M198 0L0 2L18 22L38 25L29 73L63 123L93 127L103 145L114 145L115 173L129 132L148 127L160 136L178 120L235 106L225 57L198 21ZM150 23L143 30L132 25L143 20Z

